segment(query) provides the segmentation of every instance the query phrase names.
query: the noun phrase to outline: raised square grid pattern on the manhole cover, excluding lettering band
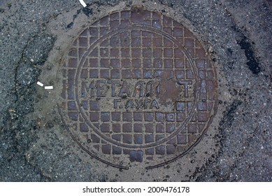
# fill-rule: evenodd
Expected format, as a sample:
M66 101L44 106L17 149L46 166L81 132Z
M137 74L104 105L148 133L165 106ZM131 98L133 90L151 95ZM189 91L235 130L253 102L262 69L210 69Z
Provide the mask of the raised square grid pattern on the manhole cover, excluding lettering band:
M136 20L136 17L134 13L127 11L103 18L99 23L83 31L69 52L68 67L63 71L68 80L63 80L65 88L62 97L68 99L66 106L69 118L75 123L78 122L77 127L80 132L89 132L90 128L82 118L80 119L76 103L73 101L75 99L73 80L79 63L78 59L97 38L106 35L116 27L127 27L134 22L139 22L140 20ZM201 133L208 120L210 110L213 108L213 102L209 102L214 96L213 69L200 43L180 24L166 16L150 12L146 13L140 23L162 29L184 45L196 63L199 78L201 78L201 93L196 106L197 111L185 132L168 141L166 145L145 151L146 155L173 154L176 151L173 144L185 145L193 140L194 135ZM194 79L192 68L185 54L173 41L150 31L129 30L105 38L99 43L86 58L80 72L80 79L152 79L162 76L163 73L177 80ZM107 112L99 111L99 104L98 101L82 102L94 126L116 141L141 145L159 141L171 134L187 116L191 102L176 102L175 113ZM91 139L92 142L97 143L97 149L103 153L126 153L117 146L106 144L96 134L91 134Z

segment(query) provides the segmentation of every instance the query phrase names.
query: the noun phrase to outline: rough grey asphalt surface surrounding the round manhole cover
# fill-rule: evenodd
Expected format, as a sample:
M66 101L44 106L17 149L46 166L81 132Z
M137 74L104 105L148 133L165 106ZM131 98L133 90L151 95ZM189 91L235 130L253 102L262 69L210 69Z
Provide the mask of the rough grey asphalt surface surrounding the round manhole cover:
M85 2L0 1L0 181L272 180L270 0ZM208 132L158 169L116 169L90 158L56 109L57 73L74 38L95 20L135 7L185 25L217 69L218 110Z

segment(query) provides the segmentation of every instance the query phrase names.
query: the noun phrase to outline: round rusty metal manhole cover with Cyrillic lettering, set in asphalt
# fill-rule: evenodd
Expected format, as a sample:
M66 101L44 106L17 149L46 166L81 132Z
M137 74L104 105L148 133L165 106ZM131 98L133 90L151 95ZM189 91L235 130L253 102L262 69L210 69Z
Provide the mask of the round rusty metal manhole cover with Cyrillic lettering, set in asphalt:
M217 108L213 64L179 22L124 10L82 31L66 54L59 111L102 162L165 165L195 146Z

